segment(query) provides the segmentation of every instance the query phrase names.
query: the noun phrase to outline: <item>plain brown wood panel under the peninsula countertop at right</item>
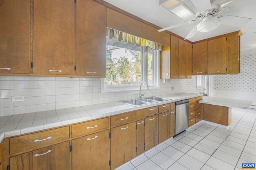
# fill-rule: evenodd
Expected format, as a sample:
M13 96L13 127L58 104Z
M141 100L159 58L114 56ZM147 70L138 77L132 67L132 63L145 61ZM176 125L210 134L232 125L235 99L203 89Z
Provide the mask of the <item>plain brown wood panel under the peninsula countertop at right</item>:
M224 106L216 106L211 104L203 104L203 120L218 123L221 125L230 125L231 108Z

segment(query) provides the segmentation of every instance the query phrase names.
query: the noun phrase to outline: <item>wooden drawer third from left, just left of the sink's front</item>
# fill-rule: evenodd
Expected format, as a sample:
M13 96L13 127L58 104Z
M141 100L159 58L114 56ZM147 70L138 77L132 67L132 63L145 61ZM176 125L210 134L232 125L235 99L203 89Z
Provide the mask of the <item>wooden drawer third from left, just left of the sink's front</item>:
M113 127L118 125L124 125L130 121L135 121L135 120L136 120L136 111L132 111L129 113L111 116L110 124L111 124L111 127Z

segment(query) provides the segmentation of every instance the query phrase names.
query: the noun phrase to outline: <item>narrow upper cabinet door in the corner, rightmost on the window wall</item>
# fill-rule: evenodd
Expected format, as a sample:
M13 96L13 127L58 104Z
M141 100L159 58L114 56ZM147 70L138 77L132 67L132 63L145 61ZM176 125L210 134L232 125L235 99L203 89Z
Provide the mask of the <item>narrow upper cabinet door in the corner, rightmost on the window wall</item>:
M186 78L192 78L192 44L186 42Z

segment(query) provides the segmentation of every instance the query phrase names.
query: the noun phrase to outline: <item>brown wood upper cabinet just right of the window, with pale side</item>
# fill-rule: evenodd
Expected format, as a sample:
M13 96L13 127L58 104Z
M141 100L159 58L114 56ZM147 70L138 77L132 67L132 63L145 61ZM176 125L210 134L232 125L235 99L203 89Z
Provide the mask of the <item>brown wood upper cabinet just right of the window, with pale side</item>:
M192 78L192 44L171 35L171 47L160 54L160 78Z

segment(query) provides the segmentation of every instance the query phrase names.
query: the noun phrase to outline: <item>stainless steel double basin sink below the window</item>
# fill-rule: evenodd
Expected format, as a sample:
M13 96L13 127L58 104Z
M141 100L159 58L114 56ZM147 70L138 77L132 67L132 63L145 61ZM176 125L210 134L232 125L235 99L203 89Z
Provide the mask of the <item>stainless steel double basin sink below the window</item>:
M129 105L132 105L132 106L140 106L140 105L144 105L144 104L162 102L162 101L166 101L166 100L172 100L172 99L152 96L152 97L144 98L144 99L141 99L141 100L133 99L133 100L123 100L123 101L120 101L120 102L129 104Z

